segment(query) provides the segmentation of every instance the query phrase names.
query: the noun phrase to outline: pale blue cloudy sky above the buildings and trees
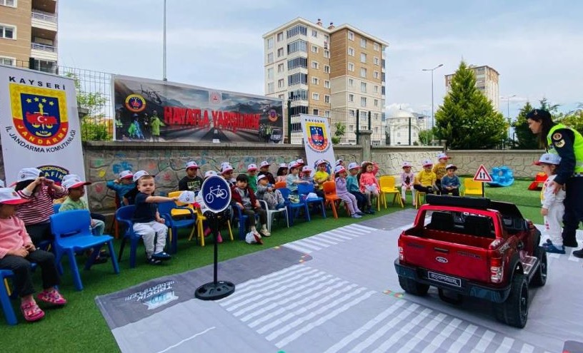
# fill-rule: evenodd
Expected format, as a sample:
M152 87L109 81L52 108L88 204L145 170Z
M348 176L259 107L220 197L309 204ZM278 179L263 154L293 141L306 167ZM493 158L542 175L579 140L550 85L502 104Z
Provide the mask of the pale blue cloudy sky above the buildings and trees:
M387 112L430 115L460 61L496 69L504 116L546 97L583 103L582 1L166 0L166 77L263 95L263 34L297 17L351 24L389 43ZM163 77L164 0L59 1L59 65Z

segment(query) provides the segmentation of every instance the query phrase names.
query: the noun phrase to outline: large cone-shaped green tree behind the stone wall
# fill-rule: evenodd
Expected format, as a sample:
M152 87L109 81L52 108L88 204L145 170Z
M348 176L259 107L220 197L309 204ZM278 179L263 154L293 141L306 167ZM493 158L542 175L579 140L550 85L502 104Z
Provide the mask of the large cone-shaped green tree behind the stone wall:
M494 148L505 138L508 123L476 88L464 61L452 79L452 91L435 113L435 135L452 149Z

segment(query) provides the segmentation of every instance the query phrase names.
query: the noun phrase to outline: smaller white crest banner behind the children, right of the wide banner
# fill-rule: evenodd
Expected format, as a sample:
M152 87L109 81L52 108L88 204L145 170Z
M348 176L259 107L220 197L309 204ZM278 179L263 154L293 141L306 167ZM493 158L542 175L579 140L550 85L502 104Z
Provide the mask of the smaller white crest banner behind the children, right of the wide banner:
M308 165L316 170L316 161L326 160L329 163L328 173L333 174L336 159L334 158L334 148L332 148L328 118L302 114L300 119L302 120L302 137L304 138Z

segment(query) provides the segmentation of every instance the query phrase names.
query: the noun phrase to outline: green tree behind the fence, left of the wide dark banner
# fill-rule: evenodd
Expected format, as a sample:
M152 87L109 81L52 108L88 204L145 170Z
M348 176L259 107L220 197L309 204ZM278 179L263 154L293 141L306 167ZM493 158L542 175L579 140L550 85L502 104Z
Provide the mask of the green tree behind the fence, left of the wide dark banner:
M103 108L107 102L104 93L84 91L79 77L73 72L67 72L65 76L74 79L77 106L85 108L89 112L86 116L81 117L81 140L111 140L113 135L104 121Z

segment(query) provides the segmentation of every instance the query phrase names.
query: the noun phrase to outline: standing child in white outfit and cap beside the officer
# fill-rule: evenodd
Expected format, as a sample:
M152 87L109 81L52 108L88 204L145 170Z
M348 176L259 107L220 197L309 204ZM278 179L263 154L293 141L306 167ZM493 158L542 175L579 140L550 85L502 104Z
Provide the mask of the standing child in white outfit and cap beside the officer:
M548 175L547 180L542 185L541 190L541 215L544 218L544 230L547 231L549 239L542 247L546 252L554 254L564 254L561 222L564 215L565 190L560 188L555 192L552 188L554 178L557 177L557 170L561 163L561 157L554 153L544 153L535 165L540 165L542 171Z

